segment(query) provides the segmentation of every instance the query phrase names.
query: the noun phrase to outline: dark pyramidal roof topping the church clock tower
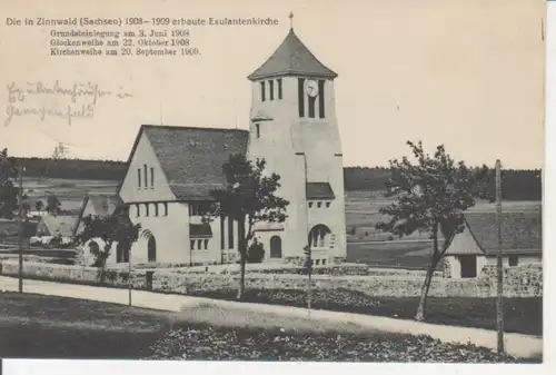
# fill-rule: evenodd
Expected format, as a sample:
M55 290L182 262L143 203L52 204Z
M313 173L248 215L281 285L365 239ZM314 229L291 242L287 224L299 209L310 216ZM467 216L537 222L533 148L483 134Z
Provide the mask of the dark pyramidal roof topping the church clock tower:
M268 60L248 78L257 80L266 77L300 75L310 77L336 78L332 70L320 62L315 55L289 29L288 36Z

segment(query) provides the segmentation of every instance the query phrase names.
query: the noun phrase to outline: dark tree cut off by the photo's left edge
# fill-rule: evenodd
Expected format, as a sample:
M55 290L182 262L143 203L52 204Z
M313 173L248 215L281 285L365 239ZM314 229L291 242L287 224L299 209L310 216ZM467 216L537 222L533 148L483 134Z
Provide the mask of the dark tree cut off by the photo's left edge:
M0 217L12 219L19 209L19 187L14 185L18 171L13 158L8 157L8 149L0 152Z

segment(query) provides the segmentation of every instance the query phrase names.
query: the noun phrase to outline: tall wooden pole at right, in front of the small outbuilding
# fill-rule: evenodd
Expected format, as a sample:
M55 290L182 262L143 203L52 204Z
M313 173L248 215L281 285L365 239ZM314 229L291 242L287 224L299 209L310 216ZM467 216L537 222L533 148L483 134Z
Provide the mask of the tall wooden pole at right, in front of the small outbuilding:
M504 353L504 269L502 265L502 164L496 160L496 226L498 227L498 253L496 256L496 274L497 274L497 304L496 304L496 323L498 328L498 354Z

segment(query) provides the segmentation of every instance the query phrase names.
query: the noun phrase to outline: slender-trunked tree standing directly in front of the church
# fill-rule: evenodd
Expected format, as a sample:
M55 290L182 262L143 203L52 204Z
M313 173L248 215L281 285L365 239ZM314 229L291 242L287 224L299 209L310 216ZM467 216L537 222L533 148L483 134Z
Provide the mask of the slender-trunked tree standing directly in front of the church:
M264 159L254 162L244 155L230 155L222 166L226 187L210 191L216 201L211 215L238 223L240 279L237 299L244 297L247 248L254 237L255 224L284 221L289 205L289 201L275 195L280 187L280 176L274 172L265 175L265 166Z

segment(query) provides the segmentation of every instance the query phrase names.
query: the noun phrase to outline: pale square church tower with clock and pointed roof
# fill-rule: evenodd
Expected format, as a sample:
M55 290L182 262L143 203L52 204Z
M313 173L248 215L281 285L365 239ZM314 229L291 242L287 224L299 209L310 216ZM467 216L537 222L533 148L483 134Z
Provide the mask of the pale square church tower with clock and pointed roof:
M301 42L292 26L248 77L252 91L249 158L264 158L268 172L280 175L277 194L290 203L284 224L256 228L266 260L295 260L308 244L319 265L346 256L337 77Z

